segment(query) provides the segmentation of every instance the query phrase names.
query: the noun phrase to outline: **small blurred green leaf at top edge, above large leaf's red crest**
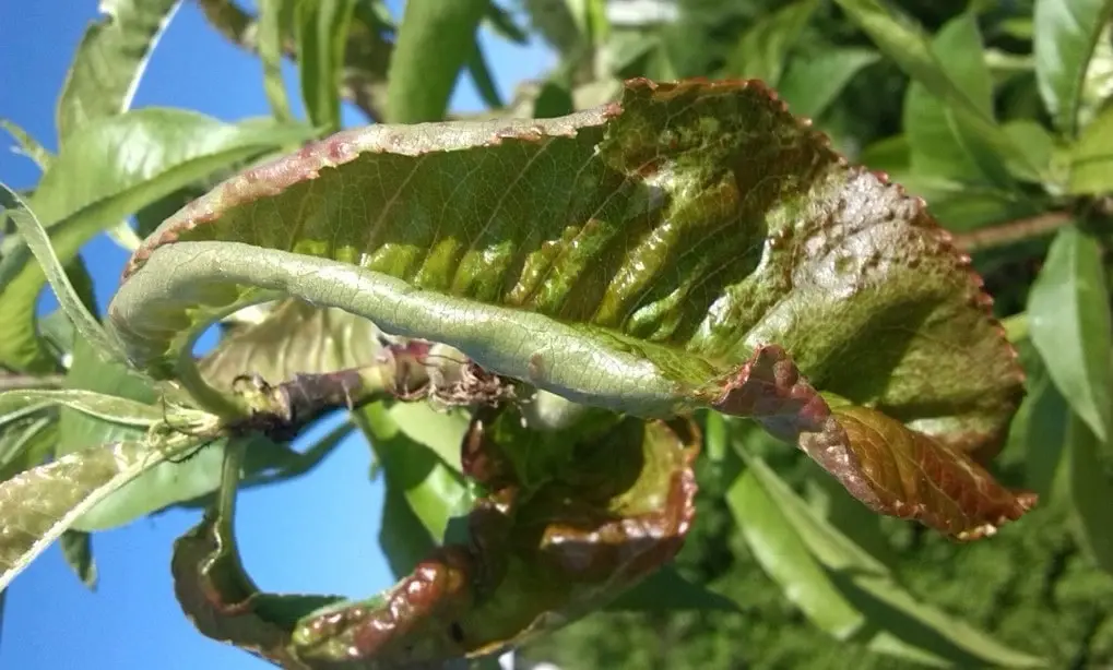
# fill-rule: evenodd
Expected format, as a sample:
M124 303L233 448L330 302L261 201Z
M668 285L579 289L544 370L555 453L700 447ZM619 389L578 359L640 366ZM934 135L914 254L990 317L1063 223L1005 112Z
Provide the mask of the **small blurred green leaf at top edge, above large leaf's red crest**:
M747 28L728 58L723 73L760 79L778 88L789 51L818 7L818 0L796 0Z

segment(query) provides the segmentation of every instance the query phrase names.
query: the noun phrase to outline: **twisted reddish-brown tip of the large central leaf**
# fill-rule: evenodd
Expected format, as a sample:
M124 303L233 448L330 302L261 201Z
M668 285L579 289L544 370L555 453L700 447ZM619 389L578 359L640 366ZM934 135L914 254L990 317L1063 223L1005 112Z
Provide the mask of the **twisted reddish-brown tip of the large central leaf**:
M1037 500L1001 486L959 449L877 410L825 399L776 344L759 347L726 379L713 406L795 442L871 510L959 541L994 534Z

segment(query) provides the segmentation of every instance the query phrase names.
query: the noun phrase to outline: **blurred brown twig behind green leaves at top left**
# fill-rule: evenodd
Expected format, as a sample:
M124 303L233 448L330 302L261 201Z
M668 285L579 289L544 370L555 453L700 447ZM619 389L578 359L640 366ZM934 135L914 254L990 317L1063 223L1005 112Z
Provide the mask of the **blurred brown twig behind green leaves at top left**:
M197 0L201 13L226 40L258 54L258 19L234 0ZM382 47L382 48L377 48ZM390 61L388 43L370 44L358 34L348 38L341 97L351 101L372 122L383 118L383 97L386 92L385 72ZM297 60L297 48L292 40L283 40L283 56Z

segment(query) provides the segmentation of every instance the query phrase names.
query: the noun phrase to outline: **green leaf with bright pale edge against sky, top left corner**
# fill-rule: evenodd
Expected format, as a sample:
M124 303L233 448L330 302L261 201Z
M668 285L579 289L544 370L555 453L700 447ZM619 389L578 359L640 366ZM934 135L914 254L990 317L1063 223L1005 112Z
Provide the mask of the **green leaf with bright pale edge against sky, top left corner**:
M58 143L131 107L147 60L180 0L116 0L86 30L58 98Z

